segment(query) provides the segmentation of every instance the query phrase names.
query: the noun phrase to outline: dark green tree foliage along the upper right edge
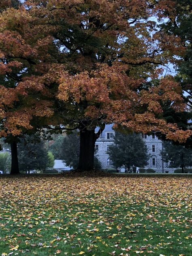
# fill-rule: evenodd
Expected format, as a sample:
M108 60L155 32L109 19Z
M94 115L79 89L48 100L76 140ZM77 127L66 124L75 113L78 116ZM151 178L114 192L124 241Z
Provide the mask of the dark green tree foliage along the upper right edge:
M179 82L183 90L183 99L188 108L185 112L174 113L169 103L164 105L164 117L167 122L177 123L180 129L186 130L190 127L189 120L192 119L192 4L191 0L174 0L172 8L164 10L168 19L160 25L160 29L166 34L181 38L184 51L179 55L177 65L174 66L177 74L175 80ZM169 70L169 68L168 68ZM165 136L161 136L165 139ZM192 148L192 136L183 143L183 146Z

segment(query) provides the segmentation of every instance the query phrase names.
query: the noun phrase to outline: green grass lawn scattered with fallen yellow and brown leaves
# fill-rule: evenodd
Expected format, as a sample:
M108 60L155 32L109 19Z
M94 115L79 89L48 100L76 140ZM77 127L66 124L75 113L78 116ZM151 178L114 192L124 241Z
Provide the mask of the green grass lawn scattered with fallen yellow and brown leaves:
M0 255L192 255L190 175L0 177Z

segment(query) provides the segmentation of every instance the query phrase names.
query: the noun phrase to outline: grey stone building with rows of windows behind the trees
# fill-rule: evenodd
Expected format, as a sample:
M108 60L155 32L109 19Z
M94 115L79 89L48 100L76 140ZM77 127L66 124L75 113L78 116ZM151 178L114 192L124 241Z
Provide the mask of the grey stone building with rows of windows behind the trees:
M96 155L102 164L102 168L112 169L114 168L113 162L109 159L107 154L107 149L109 145L114 143L113 137L115 136L115 131L112 129L113 124L107 124L105 130L100 135L99 139L96 140ZM96 128L96 132L98 128ZM152 135L141 134L143 141L145 141L145 147L147 147L147 152L150 154L150 158L147 162L145 169L154 169L156 173L172 173L175 169L169 168L169 163L163 162L160 151L162 150L162 141L156 137L156 134ZM139 166L138 166L139 167ZM124 171L124 169L121 169Z

